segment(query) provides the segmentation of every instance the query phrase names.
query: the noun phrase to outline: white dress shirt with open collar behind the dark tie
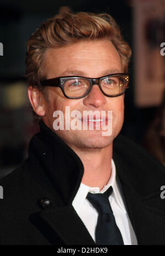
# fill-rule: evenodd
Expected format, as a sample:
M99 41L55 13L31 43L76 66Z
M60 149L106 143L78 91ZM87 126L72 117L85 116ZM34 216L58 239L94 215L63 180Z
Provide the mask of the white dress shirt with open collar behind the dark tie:
M107 185L102 188L94 187L91 188L81 183L79 190L73 200L73 207L76 213L79 215L80 219L84 222L87 230L89 231L91 237L95 239L95 229L97 225L98 213L94 206L86 199L87 193L104 193L110 186L113 188L112 194L109 196L109 202L113 210L113 215L116 220L116 224L122 234L123 242L126 245L137 244L136 236L133 227L130 223L129 216L125 210L125 206L122 197L119 192L119 188L116 182L116 166L112 159L112 170L111 178L109 179Z

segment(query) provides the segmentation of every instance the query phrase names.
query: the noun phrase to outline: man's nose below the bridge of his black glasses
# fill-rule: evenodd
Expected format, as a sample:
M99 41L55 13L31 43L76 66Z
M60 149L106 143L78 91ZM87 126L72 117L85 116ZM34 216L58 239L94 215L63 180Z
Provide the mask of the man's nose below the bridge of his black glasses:
M93 107L101 107L102 105L105 105L106 103L106 97L103 95L102 91L98 87L97 84L92 86L91 91L89 94L84 97L84 105L85 106L93 106Z

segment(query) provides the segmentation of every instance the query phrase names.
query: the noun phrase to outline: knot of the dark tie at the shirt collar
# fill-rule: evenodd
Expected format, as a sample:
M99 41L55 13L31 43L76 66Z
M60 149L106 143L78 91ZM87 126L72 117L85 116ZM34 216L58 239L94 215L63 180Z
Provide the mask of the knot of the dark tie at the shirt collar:
M90 201L90 203L94 206L94 208L97 210L97 212L100 214L109 214L113 213L111 209L111 205L109 203L109 195L112 193L112 187L109 187L105 193L88 193L87 194L87 200Z

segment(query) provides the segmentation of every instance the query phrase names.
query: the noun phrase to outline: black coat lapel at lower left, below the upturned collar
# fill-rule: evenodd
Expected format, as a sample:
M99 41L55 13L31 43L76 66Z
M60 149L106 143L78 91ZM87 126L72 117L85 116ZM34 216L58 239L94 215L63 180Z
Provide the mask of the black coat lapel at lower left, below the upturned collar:
M73 206L46 210L40 217L52 229L54 236L58 235L64 244L95 244Z

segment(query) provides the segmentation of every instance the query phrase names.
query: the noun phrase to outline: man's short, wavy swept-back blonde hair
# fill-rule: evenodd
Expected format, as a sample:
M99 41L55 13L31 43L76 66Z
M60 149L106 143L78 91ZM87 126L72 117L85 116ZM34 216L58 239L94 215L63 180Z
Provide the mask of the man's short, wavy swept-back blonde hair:
M123 40L119 26L109 14L62 13L48 19L27 41L26 77L29 85L40 85L46 79L43 55L47 48L58 48L82 40L108 39L116 47L124 72L128 70L131 50Z

